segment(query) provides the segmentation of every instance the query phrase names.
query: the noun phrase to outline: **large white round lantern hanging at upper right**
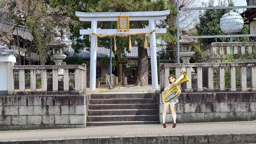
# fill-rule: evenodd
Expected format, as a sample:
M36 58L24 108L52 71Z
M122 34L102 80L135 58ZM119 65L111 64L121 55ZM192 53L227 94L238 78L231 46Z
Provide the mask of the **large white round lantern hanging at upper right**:
M226 35L235 35L242 30L244 20L241 15L230 10L230 12L221 17L219 26L221 27L221 31Z

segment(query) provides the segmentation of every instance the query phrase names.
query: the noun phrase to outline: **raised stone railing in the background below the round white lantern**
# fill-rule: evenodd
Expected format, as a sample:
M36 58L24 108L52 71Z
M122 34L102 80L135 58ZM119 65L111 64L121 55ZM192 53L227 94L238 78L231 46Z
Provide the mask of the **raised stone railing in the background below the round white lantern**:
M222 55L255 53L256 42L213 42L203 47L202 57L222 58ZM255 59L255 58L254 58ZM204 60L204 59L203 59Z

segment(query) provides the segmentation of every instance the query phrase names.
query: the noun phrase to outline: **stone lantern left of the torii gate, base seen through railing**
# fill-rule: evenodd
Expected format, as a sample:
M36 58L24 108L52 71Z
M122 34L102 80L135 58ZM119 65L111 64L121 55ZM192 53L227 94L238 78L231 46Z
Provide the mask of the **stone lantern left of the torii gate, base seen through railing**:
M53 60L55 65L61 65L63 59L67 57L63 54L63 48L68 47L68 45L61 41L61 33L58 32L58 30L54 33L54 36L54 41L46 44L46 46L52 48L52 55L50 55L50 58ZM63 73L63 69L58 69L58 90L63 90ZM52 73L48 78L47 90L52 90Z

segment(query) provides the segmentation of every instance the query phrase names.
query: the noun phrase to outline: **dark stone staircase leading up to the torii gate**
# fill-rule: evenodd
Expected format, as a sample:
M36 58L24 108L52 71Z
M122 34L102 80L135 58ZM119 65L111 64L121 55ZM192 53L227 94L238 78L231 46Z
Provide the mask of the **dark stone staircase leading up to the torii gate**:
M91 94L86 126L159 123L157 94Z

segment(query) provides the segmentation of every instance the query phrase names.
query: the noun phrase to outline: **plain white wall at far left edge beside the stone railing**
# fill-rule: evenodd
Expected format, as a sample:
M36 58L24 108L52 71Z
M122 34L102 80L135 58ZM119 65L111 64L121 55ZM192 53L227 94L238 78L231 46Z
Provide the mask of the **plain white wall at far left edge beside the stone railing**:
M0 91L7 91L7 62L0 62Z

